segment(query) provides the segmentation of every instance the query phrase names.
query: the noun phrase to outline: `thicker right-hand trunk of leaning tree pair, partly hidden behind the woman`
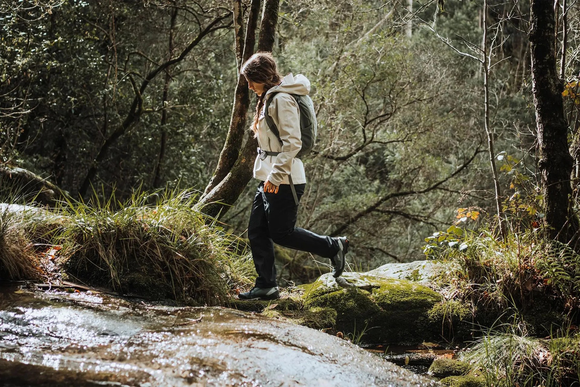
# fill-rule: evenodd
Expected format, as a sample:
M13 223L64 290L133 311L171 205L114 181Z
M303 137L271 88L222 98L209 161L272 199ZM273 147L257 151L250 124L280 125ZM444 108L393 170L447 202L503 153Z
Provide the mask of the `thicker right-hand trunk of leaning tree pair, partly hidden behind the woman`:
M258 49L260 51L272 50L279 6L280 0L266 0L264 2L258 41ZM248 86L246 85L245 88L248 89ZM206 188L206 194L199 202L200 208L205 214L214 218L221 217L226 214L231 205L240 197L248 182L252 179L252 168L256 160L257 147L258 141L254 136L248 136L244 149L235 160L229 173L213 188L209 186Z

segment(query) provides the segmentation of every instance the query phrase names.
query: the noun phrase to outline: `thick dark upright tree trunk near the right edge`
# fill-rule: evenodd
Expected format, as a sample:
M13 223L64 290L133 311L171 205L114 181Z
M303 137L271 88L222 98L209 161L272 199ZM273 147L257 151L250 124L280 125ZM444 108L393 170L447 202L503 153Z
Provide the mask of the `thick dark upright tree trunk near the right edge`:
M532 89L538 128L542 194L548 235L563 243L578 230L572 212L572 157L568 150L568 125L562 101L563 85L556 72L553 2L531 0L529 39L532 54Z

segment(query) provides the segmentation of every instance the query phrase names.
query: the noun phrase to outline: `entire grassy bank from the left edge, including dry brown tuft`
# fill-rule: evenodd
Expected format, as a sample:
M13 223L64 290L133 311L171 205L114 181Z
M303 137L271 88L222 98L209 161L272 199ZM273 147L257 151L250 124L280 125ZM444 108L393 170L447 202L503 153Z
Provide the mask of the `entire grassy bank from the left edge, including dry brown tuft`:
M253 262L195 204L193 191L168 190L135 193L125 202L114 193L88 203L63 201L52 211L0 206L0 275L223 305L255 280Z

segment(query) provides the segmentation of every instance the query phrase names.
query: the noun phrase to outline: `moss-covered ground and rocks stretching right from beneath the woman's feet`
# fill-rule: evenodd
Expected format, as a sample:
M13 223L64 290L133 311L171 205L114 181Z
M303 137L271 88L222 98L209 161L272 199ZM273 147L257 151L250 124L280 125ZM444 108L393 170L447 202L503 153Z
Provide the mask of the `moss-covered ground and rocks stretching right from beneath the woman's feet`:
M416 344L469 331L462 327L470 324L469 308L444 302L424 285L376 276L361 279L372 284L369 290L318 280L276 301L231 300L229 306L353 337L364 332L361 343Z

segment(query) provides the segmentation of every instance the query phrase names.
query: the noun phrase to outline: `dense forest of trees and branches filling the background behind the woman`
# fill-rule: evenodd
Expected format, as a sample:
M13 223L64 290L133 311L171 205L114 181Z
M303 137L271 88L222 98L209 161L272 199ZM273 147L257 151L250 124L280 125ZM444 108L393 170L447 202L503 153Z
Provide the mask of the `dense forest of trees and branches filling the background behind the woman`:
M114 191L122 201L166 187L201 195L238 83L232 3L2 2L0 165L37 173L83 200ZM238 3L245 20L251 3ZM484 16L502 206L510 227L543 216L530 4L490 0L487 15L483 9L481 0L280 3L273 55L282 74L310 79L319 124L315 151L304 160L298 225L349 236L358 269L424 258L424 238L461 219L458 208L478 213L467 222L495 214ZM578 176L579 3L558 10L558 71ZM257 185L252 180L224 211L224 229L245 237ZM577 180L572 186L575 197ZM300 267L317 259L278 255ZM320 273L290 269L282 278Z

